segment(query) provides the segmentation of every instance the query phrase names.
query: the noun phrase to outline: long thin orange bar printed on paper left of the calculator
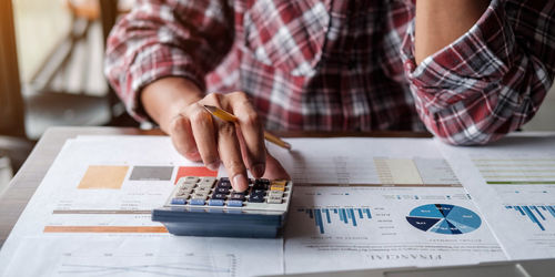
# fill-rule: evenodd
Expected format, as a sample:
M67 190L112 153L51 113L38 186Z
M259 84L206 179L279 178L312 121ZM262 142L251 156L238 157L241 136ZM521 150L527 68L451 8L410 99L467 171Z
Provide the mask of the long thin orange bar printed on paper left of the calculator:
M44 233L168 233L163 226L46 226Z

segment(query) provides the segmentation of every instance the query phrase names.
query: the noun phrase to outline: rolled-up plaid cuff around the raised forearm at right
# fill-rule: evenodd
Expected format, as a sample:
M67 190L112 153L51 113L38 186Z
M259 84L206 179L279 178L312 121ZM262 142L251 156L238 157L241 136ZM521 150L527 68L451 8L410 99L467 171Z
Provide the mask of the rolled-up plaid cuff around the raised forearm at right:
M472 96L470 92L492 85L492 80L500 80L514 60L515 39L505 18L501 1L492 1L465 34L418 65L414 60L413 21L407 28L401 54L416 96L441 109Z

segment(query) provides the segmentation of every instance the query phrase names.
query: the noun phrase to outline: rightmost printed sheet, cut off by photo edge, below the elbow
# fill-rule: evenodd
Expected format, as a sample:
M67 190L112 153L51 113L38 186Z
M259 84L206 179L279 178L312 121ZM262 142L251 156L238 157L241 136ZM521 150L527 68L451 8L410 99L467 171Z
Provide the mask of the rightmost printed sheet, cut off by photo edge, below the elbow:
M555 257L555 134L440 148L512 259Z

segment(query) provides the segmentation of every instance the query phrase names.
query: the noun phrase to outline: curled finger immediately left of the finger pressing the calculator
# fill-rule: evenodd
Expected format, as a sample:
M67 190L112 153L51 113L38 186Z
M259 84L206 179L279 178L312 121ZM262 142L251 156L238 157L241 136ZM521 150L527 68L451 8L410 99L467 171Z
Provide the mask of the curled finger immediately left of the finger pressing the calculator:
M188 113L194 141L204 165L211 171L218 171L220 158L212 115L200 104L191 105Z

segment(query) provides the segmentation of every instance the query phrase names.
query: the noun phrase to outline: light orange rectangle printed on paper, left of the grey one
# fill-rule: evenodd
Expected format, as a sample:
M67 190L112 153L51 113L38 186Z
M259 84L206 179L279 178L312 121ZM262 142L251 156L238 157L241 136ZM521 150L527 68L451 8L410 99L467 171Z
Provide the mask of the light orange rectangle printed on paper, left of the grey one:
M120 189L129 166L91 165L79 183L79 189Z

